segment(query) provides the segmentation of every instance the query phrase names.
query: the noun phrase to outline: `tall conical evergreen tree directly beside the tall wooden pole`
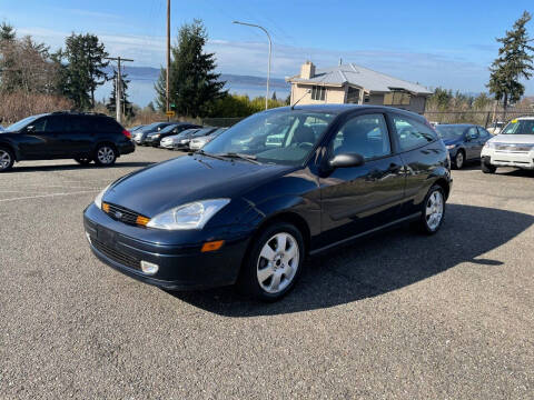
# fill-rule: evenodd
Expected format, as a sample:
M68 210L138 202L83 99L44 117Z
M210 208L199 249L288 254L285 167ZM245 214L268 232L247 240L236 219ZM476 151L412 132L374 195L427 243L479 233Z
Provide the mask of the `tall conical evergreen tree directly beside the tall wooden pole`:
M225 91L225 82L218 81L220 74L215 73L217 67L214 53L202 52L208 40L206 28L200 20L184 24L178 32L177 44L171 49L169 100L176 104L180 116L205 117L214 102L220 99ZM156 82L158 93L157 104L165 111L166 70Z

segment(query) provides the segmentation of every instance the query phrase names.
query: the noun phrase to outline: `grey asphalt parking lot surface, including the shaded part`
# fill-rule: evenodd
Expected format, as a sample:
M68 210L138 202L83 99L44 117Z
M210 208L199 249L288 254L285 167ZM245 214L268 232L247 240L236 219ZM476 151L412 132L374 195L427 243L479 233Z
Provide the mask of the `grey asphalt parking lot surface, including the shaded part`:
M337 249L263 304L170 294L90 253L99 190L177 156L0 174L0 399L533 398L533 172L454 171L438 234Z

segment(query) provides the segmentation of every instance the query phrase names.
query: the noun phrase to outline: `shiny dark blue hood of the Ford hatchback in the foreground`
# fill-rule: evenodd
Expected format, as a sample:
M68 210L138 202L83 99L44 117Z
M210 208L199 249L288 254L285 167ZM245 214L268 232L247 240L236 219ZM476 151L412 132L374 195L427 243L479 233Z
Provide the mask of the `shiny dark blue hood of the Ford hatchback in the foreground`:
M200 154L182 156L119 179L105 193L103 201L151 218L195 200L237 198L265 180L294 169Z

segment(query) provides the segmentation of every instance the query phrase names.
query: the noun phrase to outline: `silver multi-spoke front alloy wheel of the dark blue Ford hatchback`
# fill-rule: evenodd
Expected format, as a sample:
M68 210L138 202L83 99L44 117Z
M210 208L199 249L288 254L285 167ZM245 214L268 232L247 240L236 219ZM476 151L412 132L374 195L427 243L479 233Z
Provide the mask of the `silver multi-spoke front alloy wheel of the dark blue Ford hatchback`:
M257 262L261 289L273 294L284 291L297 273L299 257L298 242L291 234L279 232L267 240Z

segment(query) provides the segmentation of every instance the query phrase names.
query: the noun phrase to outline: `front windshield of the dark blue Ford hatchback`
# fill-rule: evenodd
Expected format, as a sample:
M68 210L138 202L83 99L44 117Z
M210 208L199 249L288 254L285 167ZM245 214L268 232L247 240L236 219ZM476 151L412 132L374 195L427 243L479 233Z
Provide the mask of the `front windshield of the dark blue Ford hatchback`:
M248 154L259 162L304 162L336 114L279 109L254 114L211 140L204 151Z

